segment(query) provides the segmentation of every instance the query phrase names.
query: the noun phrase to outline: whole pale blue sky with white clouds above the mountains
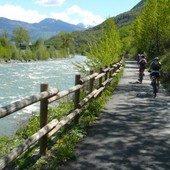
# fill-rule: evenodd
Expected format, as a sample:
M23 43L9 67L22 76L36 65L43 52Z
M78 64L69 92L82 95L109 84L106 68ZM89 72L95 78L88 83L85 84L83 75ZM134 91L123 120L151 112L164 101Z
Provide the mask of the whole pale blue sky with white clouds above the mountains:
M141 0L0 0L0 17L28 23L45 18L95 26L132 9Z

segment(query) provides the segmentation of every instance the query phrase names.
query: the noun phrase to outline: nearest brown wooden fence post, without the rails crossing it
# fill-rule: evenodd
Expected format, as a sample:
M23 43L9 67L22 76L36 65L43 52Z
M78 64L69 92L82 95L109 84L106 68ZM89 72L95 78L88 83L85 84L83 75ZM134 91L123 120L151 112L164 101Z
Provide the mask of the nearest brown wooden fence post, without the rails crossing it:
M41 84L40 91L47 91L48 84ZM48 115L48 100L43 99L40 102L40 128L44 127L47 124L47 115ZM40 139L40 154L46 155L47 153L47 135L44 135Z

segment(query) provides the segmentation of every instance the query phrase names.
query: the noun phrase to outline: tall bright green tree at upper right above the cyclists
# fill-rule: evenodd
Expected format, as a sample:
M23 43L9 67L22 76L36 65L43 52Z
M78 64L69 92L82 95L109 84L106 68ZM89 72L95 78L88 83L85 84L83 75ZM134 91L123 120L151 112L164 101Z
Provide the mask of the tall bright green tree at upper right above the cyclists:
M138 51L145 51L150 58L163 54L167 42L170 42L169 8L168 0L148 0L134 24Z

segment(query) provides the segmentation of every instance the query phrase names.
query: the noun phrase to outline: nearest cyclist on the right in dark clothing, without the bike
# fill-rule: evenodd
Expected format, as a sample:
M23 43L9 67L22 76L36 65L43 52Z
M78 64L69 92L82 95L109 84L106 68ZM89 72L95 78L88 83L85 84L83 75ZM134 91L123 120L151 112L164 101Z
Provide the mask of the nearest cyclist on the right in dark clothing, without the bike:
M155 57L150 64L149 71L150 71L151 85L152 85L152 76L156 76L158 88L159 88L160 76L161 76L160 69L161 69L161 62L159 61L159 57Z

